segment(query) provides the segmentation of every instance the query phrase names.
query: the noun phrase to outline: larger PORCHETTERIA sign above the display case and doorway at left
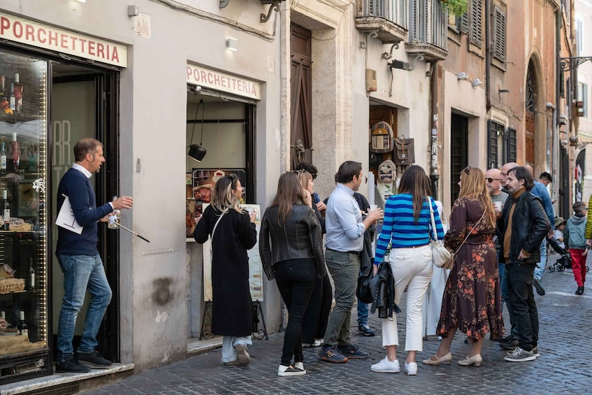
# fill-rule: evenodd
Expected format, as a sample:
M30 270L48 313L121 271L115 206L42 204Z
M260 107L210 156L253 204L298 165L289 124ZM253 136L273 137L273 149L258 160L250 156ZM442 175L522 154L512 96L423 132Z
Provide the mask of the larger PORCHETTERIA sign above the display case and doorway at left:
M125 45L40 24L15 15L0 13L0 38L96 62L127 67Z

